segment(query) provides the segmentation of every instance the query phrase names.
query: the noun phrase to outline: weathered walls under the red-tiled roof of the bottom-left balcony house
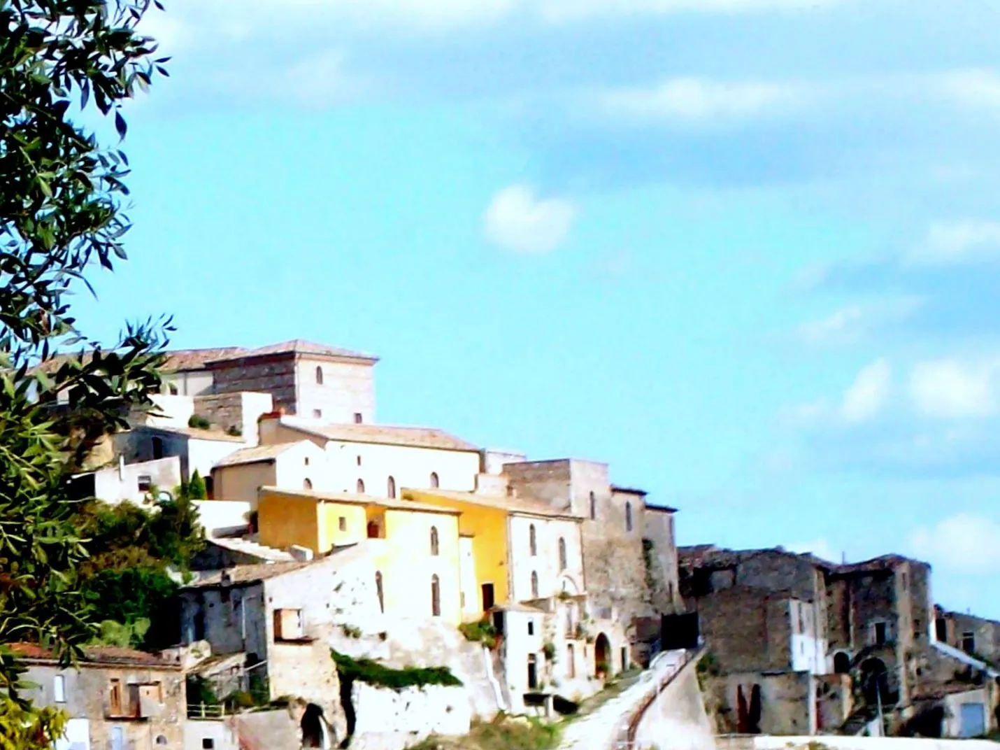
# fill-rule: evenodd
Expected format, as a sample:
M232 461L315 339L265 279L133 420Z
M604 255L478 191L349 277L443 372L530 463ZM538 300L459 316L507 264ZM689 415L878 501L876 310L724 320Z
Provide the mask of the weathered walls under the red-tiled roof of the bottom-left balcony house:
M57 676L61 677L65 686L66 700L61 703L55 700ZM181 747L184 743L187 701L184 677L179 669L81 663L78 670L63 670L56 665L29 664L23 679L38 685L34 690L25 691L26 697L36 705L54 706L65 711L71 719L87 721L92 750L112 747L111 740L116 733L122 737L123 748L157 747L155 743L159 737L166 740L168 747ZM135 688L130 686L159 685L158 694L162 702L151 706L153 715L145 720L112 717L112 680L118 680L121 686L123 713L134 714L137 710Z

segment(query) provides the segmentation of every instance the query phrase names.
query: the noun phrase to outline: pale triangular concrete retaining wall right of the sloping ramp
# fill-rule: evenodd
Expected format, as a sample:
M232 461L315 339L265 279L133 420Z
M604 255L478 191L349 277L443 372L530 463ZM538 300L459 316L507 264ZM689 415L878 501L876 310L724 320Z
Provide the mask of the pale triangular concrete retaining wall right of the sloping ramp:
M635 746L656 750L714 750L694 663L674 677L639 721Z

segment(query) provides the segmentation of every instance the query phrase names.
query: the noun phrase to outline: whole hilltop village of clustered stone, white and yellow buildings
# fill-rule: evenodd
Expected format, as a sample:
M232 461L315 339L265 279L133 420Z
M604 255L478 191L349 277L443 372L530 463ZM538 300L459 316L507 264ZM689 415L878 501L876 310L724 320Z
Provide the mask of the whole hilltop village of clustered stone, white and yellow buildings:
M376 363L298 340L170 353L156 409L75 481L154 512L204 481L162 612L178 642L97 644L78 670L18 644L67 748L398 750L626 679L610 725L634 734L685 670L716 734L997 729L1000 623L936 607L926 563L678 548L677 510L606 464L380 423Z

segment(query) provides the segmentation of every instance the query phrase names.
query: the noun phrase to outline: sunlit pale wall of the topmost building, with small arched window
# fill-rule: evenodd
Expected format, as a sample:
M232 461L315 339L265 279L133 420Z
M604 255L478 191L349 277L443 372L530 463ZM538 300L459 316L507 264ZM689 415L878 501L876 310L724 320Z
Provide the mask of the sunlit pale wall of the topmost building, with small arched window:
M323 372L322 384L316 382L317 367ZM375 422L374 363L299 355L295 371L299 401L296 413L300 416L353 423L355 414L360 414L365 424Z

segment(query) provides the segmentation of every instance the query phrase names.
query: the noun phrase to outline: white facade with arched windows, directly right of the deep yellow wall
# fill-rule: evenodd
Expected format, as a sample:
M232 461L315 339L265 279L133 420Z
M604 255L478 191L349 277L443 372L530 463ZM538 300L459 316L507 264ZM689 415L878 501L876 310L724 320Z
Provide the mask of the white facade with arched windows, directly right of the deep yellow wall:
M514 601L548 597L565 590L584 591L583 550L578 521L512 515L510 526L510 575ZM531 554L531 529L535 530L535 551ZM559 560L559 540L566 548L566 568ZM538 576L538 592L531 589L532 573Z

